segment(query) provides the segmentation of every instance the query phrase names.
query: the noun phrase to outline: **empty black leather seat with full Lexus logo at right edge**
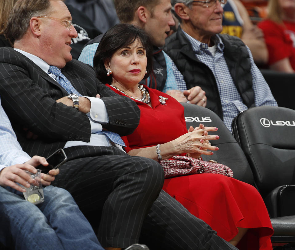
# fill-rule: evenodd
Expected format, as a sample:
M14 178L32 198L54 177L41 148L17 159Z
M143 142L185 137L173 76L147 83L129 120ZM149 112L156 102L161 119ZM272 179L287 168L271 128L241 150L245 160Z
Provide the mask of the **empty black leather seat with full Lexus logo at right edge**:
M295 110L262 106L232 123L274 228L273 241L295 242Z

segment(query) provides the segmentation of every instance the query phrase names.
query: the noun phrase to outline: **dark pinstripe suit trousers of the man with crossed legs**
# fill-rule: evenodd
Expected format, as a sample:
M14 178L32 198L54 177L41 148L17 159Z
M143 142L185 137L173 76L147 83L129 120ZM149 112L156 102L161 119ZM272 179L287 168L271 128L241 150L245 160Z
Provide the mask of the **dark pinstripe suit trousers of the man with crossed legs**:
M75 148L86 157L76 158L81 152ZM99 150L98 156L87 157L92 150ZM102 246L126 248L140 242L151 250L236 249L161 190L163 170L156 161L114 147L65 151L76 159L60 167L53 185L67 189L82 212L99 212Z

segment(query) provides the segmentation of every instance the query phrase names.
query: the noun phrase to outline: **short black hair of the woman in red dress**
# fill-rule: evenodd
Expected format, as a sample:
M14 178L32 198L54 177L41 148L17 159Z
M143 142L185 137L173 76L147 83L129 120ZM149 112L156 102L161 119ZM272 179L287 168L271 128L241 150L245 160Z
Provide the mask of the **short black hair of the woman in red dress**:
M112 75L107 76L104 62L110 60L112 55L120 48L124 48L134 41L139 40L145 49L147 56L147 78L152 71L153 46L149 35L140 27L132 24L116 24L110 28L101 38L93 58L93 67L96 71L96 77L103 83L112 82Z

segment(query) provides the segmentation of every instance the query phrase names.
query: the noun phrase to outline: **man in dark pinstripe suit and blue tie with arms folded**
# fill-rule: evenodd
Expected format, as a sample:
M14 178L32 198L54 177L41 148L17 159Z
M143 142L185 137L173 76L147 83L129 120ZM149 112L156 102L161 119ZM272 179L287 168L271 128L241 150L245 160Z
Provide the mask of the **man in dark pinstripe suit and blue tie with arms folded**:
M5 34L14 49L0 49L0 95L23 150L46 156L65 149L69 161L52 183L82 211L96 212L105 249L139 241L161 250L236 249L161 190L157 162L127 155L100 133L132 133L140 111L102 85L89 65L72 60L69 43L77 32L70 20L60 0L19 0L10 14ZM65 87L50 65L62 69ZM65 88L81 94L77 108Z

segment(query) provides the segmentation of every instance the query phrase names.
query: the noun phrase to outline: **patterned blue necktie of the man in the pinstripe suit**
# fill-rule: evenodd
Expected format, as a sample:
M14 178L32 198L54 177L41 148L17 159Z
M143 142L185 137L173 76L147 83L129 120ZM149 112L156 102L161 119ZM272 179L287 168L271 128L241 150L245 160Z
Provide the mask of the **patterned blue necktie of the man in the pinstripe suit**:
M73 85L70 83L70 81L65 77L65 75L63 73L61 73L61 69L57 68L56 66L50 66L49 73L52 73L53 75L56 76L56 81L58 84L61 85L61 87L63 87L69 94L76 94L77 96L82 96L74 87ZM116 143L118 145L124 146L126 147L124 141L122 140L122 138L120 137L120 135L118 135L115 132L112 131L101 131L101 132L97 132L96 134L104 134L108 137L108 139L110 139L113 143Z

